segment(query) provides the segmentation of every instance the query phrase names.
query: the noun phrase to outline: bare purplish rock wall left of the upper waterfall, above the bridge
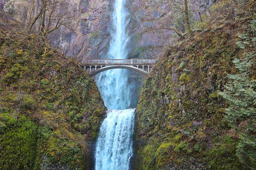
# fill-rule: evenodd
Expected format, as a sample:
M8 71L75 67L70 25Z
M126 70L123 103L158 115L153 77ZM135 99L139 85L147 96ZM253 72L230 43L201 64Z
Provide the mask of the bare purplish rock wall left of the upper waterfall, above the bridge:
M75 30L62 28L51 34L55 47L79 61L106 56L109 47L109 26L112 12L111 0L81 0L71 2L75 9Z

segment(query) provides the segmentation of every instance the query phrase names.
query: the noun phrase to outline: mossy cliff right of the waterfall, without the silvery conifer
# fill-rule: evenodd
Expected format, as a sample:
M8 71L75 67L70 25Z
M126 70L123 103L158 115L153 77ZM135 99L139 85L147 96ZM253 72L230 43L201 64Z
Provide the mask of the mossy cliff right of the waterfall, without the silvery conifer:
M137 169L247 168L235 155L239 137L224 118L227 104L218 91L225 75L236 72L232 61L255 48L236 44L246 30L255 36L249 24L194 33L157 62L136 109Z

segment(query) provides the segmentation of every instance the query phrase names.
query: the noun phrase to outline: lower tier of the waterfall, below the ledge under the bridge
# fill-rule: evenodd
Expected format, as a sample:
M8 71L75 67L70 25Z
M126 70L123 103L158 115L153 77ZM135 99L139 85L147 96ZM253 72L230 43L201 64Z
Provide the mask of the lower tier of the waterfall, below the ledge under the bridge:
M129 169L134 109L109 110L96 148L96 169Z

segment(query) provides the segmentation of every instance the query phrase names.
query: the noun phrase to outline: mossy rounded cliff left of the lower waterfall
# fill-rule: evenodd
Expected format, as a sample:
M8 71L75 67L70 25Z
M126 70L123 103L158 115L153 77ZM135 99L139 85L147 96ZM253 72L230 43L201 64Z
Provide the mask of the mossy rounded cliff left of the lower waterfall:
M81 66L1 21L0 169L88 169L106 108Z

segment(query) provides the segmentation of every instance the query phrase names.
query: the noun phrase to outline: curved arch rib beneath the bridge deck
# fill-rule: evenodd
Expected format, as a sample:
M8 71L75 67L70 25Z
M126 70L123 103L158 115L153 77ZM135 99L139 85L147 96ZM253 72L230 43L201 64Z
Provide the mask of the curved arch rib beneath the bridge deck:
M146 72L145 70L140 69L137 66L129 66L129 65L113 65L113 66L104 66L100 69L95 70L94 72L91 72L91 76L95 76L101 72L107 71L107 70L112 70L112 69L128 69L128 70L132 70L138 73L141 73L143 75L148 75L149 72Z

